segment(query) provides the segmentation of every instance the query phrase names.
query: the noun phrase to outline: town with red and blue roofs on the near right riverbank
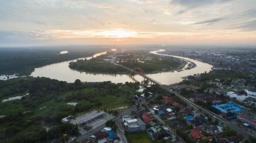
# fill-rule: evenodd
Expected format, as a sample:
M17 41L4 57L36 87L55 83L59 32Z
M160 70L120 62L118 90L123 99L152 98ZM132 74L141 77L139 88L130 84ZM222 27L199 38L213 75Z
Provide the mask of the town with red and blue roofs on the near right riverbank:
M239 66L239 63L240 61L233 66ZM252 62L249 64L254 65ZM76 121L83 117L79 116L75 119L67 117L72 119L64 122L79 125L81 136L74 139L79 143L241 143L249 140L254 142L255 73L253 70L249 72L248 69L252 69L251 67L242 68L243 71L233 71L231 67L213 65L210 73L187 76L182 82L169 85L167 88L171 92L155 84L142 84L141 93L131 99L134 105L120 111L116 116L111 112L99 110L83 115L91 121ZM175 93L212 112L214 116L184 102ZM104 118L106 122L102 122ZM239 127L249 136L227 126L223 121ZM109 122L112 124L108 125ZM89 130L84 132L88 127Z

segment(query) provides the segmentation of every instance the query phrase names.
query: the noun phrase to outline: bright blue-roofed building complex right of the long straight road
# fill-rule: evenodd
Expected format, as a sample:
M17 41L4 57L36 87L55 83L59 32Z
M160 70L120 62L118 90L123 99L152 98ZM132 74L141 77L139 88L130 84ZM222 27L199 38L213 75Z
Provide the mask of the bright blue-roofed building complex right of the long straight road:
M225 114L227 114L227 112L235 113L241 112L243 110L240 106L233 104L232 102L227 102L225 104L220 105L212 105L212 107L218 109L219 111Z

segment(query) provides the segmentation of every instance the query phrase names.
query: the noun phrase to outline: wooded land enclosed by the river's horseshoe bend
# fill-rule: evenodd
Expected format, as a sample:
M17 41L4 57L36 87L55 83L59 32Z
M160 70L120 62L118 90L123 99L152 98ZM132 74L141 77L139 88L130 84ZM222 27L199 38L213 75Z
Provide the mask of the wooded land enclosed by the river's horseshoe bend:
M180 67L180 61L175 61L172 57L165 57L164 59L156 55L146 55L145 53L134 54L126 53L129 56L118 56L118 64L124 65L130 68L140 67L145 73L157 73L161 71L174 70ZM76 62L70 62L69 67L71 69L95 73L119 73L127 74L128 71L122 67L111 64L109 61L112 57L108 55L98 56L90 60L77 60Z

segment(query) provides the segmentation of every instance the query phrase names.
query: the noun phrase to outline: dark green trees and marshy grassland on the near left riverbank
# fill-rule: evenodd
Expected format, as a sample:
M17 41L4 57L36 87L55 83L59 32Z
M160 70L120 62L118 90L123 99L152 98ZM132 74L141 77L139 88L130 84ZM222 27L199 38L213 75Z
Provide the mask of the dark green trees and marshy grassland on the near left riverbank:
M106 81L82 84L80 80L67 83L39 77L0 81L0 100L29 93L20 100L0 103L0 115L6 115L0 118L0 140L6 143L44 143L64 134L76 135L76 126L61 123L62 118L91 109L106 111L132 104L131 95L138 88L138 83L119 85ZM67 105L69 102L77 104Z

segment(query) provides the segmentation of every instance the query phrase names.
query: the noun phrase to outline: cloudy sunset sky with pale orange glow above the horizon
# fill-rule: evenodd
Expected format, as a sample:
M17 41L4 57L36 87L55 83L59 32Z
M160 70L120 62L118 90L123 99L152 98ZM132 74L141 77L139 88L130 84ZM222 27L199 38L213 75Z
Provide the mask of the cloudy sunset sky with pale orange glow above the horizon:
M0 0L0 46L256 45L256 0Z

